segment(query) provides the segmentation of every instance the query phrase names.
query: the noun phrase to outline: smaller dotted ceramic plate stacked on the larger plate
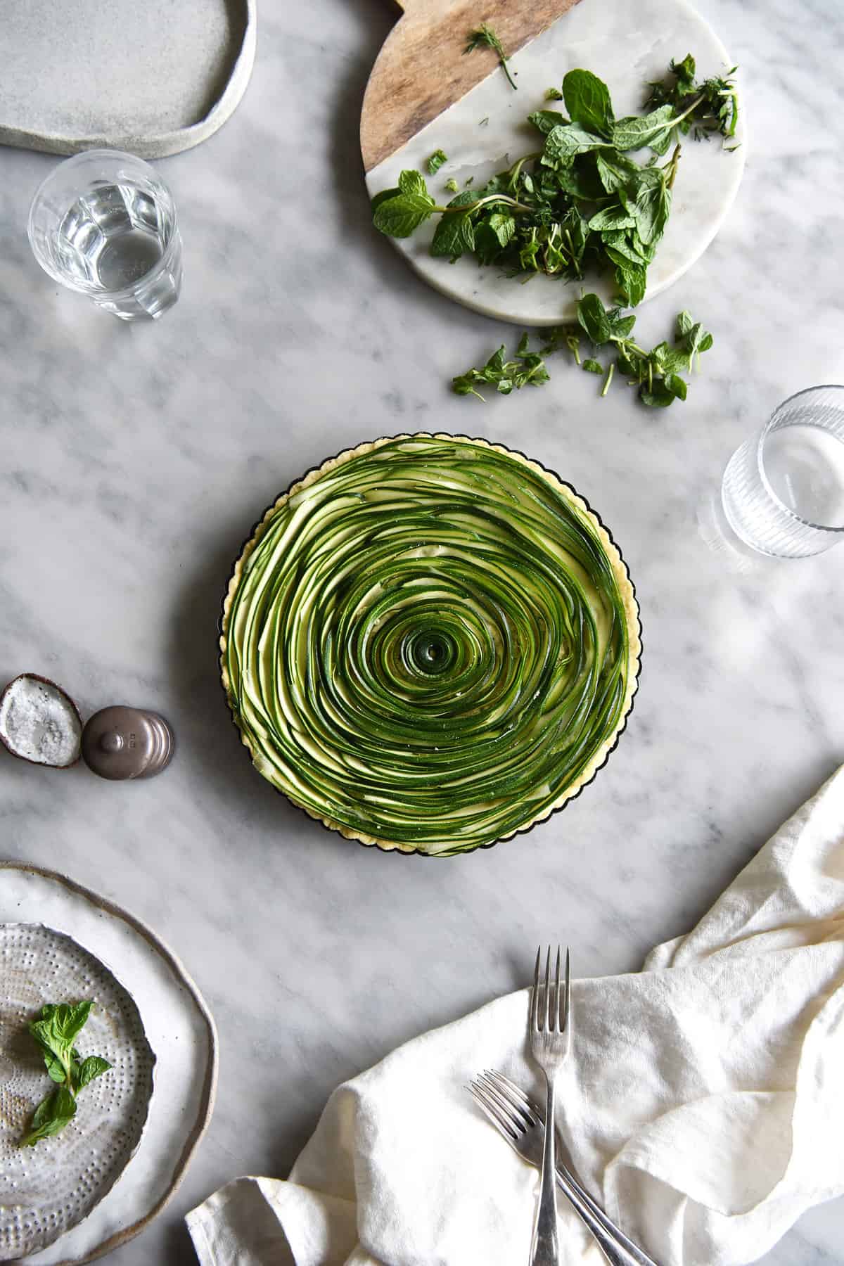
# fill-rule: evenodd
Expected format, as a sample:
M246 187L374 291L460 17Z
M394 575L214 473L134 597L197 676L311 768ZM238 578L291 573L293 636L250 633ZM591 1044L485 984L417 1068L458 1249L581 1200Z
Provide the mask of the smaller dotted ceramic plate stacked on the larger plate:
M20 1148L52 1089L27 1020L44 1003L82 998L95 1006L80 1052L111 1069L80 1093L61 1134ZM99 958L39 923L0 924L0 1261L47 1247L114 1186L140 1142L154 1062L138 1008Z

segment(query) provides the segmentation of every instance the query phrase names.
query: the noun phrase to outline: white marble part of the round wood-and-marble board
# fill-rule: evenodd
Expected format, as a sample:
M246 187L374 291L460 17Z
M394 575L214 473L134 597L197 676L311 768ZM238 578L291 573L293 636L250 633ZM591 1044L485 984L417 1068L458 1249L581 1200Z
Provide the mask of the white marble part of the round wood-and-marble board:
M463 38L463 33L456 32L454 38ZM435 149L449 161L428 177L434 196L443 201L452 196L445 190L450 177L461 187L468 180L481 186L537 148L540 138L526 116L533 110L554 108L554 103L544 100L545 89L559 87L567 71L583 67L602 78L620 118L640 113L647 82L663 78L672 57L686 53L696 58L698 78L724 73L733 66L719 37L686 0L581 0L511 57L510 67L518 72L515 92L502 71L493 70L367 171L369 196L395 186L405 167L424 171ZM648 270L645 301L691 268L717 233L742 180L744 139L742 115L730 142L739 148L733 152L724 149L720 137L683 142L672 215ZM478 266L469 256L456 263L433 258L429 248L438 219L431 216L413 237L394 242L410 266L442 294L487 316L524 325L555 325L574 315L580 284L544 275L520 284L497 268ZM611 279L588 277L587 284L610 300Z

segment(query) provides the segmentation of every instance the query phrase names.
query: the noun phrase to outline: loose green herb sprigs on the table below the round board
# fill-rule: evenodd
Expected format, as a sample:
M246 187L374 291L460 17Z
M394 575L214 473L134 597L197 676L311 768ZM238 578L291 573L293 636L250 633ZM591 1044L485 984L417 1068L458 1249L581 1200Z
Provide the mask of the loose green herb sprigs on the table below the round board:
M583 295L577 304L577 325L558 325L542 332L543 346L539 351L531 351L530 337L523 334L511 361L505 360L506 349L501 346L482 368L467 370L453 379L452 390L457 395L476 395L483 400L478 390L481 386L495 387L501 395L525 386L539 386L550 377L544 357L568 348L582 370L602 376L602 396L617 370L630 386L636 387L643 404L664 409L674 400L686 399L688 384L680 375L700 368L701 352L712 346L712 335L687 311L677 316L673 346L658 343L650 352L633 338L635 316L625 316L619 308L605 308L597 295ZM604 361L581 358L583 334L596 352L602 349Z

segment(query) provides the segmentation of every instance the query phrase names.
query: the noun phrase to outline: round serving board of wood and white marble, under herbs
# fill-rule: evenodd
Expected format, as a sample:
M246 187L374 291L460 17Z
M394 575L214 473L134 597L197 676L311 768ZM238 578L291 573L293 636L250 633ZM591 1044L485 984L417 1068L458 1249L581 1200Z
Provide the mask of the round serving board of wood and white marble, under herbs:
M616 116L642 111L645 84L663 78L674 58L692 53L698 77L733 66L724 44L687 0L404 0L372 70L361 116L361 152L369 196L396 185L402 168L425 171L442 149L448 163L426 176L431 194L448 199L445 181L483 185L520 154L537 148L528 114L548 105L574 67L610 87ZM492 49L464 56L468 33L482 22L510 54L509 85ZM739 78L739 92L742 91ZM553 105L554 103L552 103ZM725 153L720 138L686 142L674 185L672 216L649 268L645 301L690 268L715 237L744 168L744 111ZM502 277L464 256L452 265L429 247L438 216L395 247L431 286L488 316L520 325L555 325L574 315L580 285L535 276L528 285ZM373 232L376 232L373 229ZM610 280L590 277L610 300ZM683 304L680 303L680 308Z

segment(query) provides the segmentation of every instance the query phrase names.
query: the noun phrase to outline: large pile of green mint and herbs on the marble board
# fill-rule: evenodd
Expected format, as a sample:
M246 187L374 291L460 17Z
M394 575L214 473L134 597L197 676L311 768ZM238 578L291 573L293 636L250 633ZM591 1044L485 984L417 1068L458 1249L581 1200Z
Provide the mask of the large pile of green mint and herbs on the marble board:
M529 115L537 149L445 205L419 172L402 171L397 187L372 200L375 227L405 238L439 215L433 256L454 261L469 253L523 279L544 272L578 281L587 270L611 271L619 298L634 308L671 214L680 138L735 134L731 75L698 84L690 54L671 63L666 82L649 85L649 113L616 119L606 84L590 71L569 71L562 87L567 115ZM650 157L636 162L631 153L639 149Z

